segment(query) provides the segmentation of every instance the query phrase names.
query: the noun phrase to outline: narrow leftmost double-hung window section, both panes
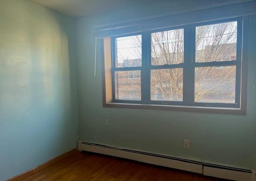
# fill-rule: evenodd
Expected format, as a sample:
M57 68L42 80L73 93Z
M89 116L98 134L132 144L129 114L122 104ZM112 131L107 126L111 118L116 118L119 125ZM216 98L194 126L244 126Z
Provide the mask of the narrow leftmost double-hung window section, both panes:
M113 70L113 74L116 100L141 100L141 37L137 35L114 38L116 70Z

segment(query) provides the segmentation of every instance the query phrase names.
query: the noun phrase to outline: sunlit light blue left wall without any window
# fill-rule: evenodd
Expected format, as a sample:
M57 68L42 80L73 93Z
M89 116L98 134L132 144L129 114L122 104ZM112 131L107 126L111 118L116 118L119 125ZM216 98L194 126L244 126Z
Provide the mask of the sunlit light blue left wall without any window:
M0 0L0 180L76 147L73 18Z

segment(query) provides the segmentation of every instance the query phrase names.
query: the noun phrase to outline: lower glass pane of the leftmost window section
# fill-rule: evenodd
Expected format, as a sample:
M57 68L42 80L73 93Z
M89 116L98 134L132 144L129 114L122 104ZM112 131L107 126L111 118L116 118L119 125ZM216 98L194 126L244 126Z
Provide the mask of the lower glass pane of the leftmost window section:
M119 100L141 100L140 70L115 72L115 96Z

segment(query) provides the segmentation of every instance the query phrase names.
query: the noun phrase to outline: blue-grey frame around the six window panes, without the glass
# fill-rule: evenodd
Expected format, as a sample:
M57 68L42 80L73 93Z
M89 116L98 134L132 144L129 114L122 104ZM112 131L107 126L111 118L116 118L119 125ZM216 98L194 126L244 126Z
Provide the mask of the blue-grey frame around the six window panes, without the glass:
M245 35L245 24L248 21L248 17L235 17L235 18L226 18L222 20L213 20L207 22L200 22L195 24L187 24L182 26L174 26L170 28L161 28L156 30L138 32L133 34L125 34L121 36L111 37L111 55L112 55L112 101L111 103L104 103L104 107L131 107L131 108L144 108L145 109L163 109L163 107L167 106L164 109L167 110L185 110L188 109L180 109L181 107L190 107L190 110L195 110L197 108L202 108L205 110L214 109L213 112L216 113L234 113L234 114L245 114L246 113L246 105L244 100L242 103L242 94L247 93L246 88L242 90L242 71L246 70L243 74L247 74L247 67L242 70L242 63L246 63L247 60L243 60L244 57L246 59L246 45L243 45L244 36ZM222 62L195 62L195 38L196 38L196 27L204 26L210 24L218 24L224 22L233 22L237 21L237 46L236 46L236 60L222 61ZM181 64L172 64L172 65L160 65L153 66L151 65L151 33L154 32L163 32L169 30L176 29L184 29L184 60ZM127 37L127 36L142 36L142 66L141 67L124 67L124 68L116 68L115 67L115 38ZM191 50L191 51L188 51ZM243 56L243 58L242 58ZM247 63L246 63L247 64ZM246 65L245 64L245 65ZM208 66L236 66L236 95L235 95L235 103L206 103L206 102L195 102L194 101L194 69L196 67L208 67ZM150 70L153 69L166 69L166 68L183 68L183 101L156 101L150 100ZM114 80L114 72L115 71L129 71L129 70L140 70L141 71L141 101L132 101L132 100L120 100L115 99L115 80ZM191 81L192 80L192 81ZM244 82L245 78L243 79ZM245 84L245 83L244 83ZM247 75L246 75L246 84L247 84ZM192 91L191 91L192 90ZM192 95L192 96L191 96ZM245 97L245 96L243 96ZM106 106L109 104L109 106ZM115 106L116 104L116 106ZM125 104L125 106L124 106ZM121 106L120 106L121 105ZM138 106L136 106L138 105ZM143 105L141 107L141 105ZM242 109L242 106L245 109ZM134 107L135 106L135 107ZM151 108L152 107L152 108ZM173 109L176 107L175 109ZM225 111L216 111L216 110L225 110ZM227 111L231 110L231 111ZM188 110L189 111L189 110ZM200 111L202 112L202 111ZM204 111L203 111L204 112ZM206 111L208 112L208 111Z

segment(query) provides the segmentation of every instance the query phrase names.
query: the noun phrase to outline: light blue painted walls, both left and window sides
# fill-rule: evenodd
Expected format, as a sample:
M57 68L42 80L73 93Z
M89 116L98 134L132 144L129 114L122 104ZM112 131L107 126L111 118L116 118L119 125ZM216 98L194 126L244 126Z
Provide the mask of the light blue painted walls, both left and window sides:
M246 116L103 108L99 45L93 76L94 25L210 2L149 1L80 17L75 24L28 0L0 0L0 180L75 148L78 105L79 125L106 144L256 168L256 16L250 16ZM80 139L95 141L84 127ZM190 150L182 149L183 139L190 139Z

